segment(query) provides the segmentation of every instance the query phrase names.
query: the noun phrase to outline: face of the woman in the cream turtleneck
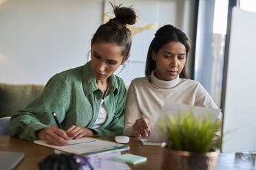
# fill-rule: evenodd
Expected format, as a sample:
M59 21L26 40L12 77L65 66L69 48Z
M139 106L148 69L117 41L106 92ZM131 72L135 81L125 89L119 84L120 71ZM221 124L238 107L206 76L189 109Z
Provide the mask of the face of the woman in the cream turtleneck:
M178 41L168 42L158 53L153 51L151 56L156 61L156 77L165 81L174 80L186 64L186 47Z

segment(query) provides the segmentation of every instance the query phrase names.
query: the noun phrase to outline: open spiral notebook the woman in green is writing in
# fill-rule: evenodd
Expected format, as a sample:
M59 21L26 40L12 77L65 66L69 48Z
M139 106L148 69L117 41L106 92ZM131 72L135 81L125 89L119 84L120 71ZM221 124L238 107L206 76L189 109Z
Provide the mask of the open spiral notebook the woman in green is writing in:
M43 145L45 147L57 149L59 151L65 151L70 154L85 156L110 154L116 151L127 151L130 149L129 145L122 145L119 143L90 137L70 140L65 146L49 145L42 140L34 141L34 143L38 145Z

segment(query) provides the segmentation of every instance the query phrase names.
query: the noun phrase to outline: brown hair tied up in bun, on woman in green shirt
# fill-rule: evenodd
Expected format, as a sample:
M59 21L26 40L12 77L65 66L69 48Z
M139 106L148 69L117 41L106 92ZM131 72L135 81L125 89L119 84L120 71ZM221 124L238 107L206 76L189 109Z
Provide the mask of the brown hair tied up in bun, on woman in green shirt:
M136 23L137 16L133 8L121 7L121 5L113 5L111 3L116 17L98 27L92 38L91 45L97 42L115 43L123 47L121 55L125 59L129 56L132 40L131 30L126 27L126 24L132 25Z

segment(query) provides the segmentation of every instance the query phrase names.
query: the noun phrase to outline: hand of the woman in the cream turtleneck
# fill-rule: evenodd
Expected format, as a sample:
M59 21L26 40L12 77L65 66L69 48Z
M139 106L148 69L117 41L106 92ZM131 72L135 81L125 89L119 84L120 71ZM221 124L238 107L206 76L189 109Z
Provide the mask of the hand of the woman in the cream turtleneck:
M133 132L137 137L148 137L151 133L149 121L145 117L137 119L134 123Z

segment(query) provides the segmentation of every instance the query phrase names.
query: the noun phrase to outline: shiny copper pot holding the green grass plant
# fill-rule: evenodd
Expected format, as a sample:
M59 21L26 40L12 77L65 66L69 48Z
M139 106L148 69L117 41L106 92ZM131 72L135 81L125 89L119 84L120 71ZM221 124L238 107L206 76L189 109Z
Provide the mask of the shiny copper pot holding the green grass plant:
M162 148L162 169L213 170L217 169L220 151L204 154Z

